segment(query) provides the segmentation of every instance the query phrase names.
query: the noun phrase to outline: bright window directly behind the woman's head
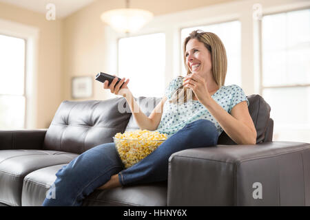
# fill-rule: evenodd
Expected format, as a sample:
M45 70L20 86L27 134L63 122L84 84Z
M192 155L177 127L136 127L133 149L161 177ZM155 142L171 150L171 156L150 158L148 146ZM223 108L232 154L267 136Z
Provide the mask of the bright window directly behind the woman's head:
M183 53L183 43L189 34L194 30L203 30L213 32L218 35L225 46L227 54L227 74L225 85L236 84L241 86L241 25L240 21L230 21L217 23L214 25L199 26L194 28L185 28L181 30L181 49ZM183 57L182 69L186 74Z

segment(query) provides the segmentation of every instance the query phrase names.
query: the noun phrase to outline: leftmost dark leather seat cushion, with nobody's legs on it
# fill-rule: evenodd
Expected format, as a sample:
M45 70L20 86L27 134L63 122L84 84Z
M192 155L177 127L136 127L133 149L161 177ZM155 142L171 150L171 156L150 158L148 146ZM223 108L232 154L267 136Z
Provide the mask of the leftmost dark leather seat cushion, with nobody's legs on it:
M0 151L0 202L10 206L21 206L21 190L25 175L45 166L68 163L76 156L59 151Z

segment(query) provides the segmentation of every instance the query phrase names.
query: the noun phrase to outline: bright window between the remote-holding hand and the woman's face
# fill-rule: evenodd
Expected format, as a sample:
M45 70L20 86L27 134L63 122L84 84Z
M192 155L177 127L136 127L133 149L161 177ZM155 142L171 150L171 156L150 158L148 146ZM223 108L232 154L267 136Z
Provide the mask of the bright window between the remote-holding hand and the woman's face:
M130 78L135 97L163 97L165 91L165 34L132 36L118 41L118 76Z

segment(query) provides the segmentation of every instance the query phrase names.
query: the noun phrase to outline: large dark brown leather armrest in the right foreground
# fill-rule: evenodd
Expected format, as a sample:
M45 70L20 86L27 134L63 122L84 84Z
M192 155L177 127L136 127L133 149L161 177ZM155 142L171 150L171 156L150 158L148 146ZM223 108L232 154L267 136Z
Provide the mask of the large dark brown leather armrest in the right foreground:
M310 144L264 142L169 157L168 206L310 206Z

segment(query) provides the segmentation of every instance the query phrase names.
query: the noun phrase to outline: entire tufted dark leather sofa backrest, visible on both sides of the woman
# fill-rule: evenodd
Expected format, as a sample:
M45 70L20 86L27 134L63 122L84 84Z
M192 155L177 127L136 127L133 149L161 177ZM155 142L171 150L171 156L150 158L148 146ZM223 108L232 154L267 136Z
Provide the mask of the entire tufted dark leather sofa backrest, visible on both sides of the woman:
M259 95L247 96L249 113L257 131L257 143L272 140L273 121L270 107ZM138 97L136 102L145 115L152 113L161 98ZM45 135L43 148L83 153L99 144L113 142L124 131L139 129L125 98L98 101L63 101ZM218 144L236 144L223 131Z

